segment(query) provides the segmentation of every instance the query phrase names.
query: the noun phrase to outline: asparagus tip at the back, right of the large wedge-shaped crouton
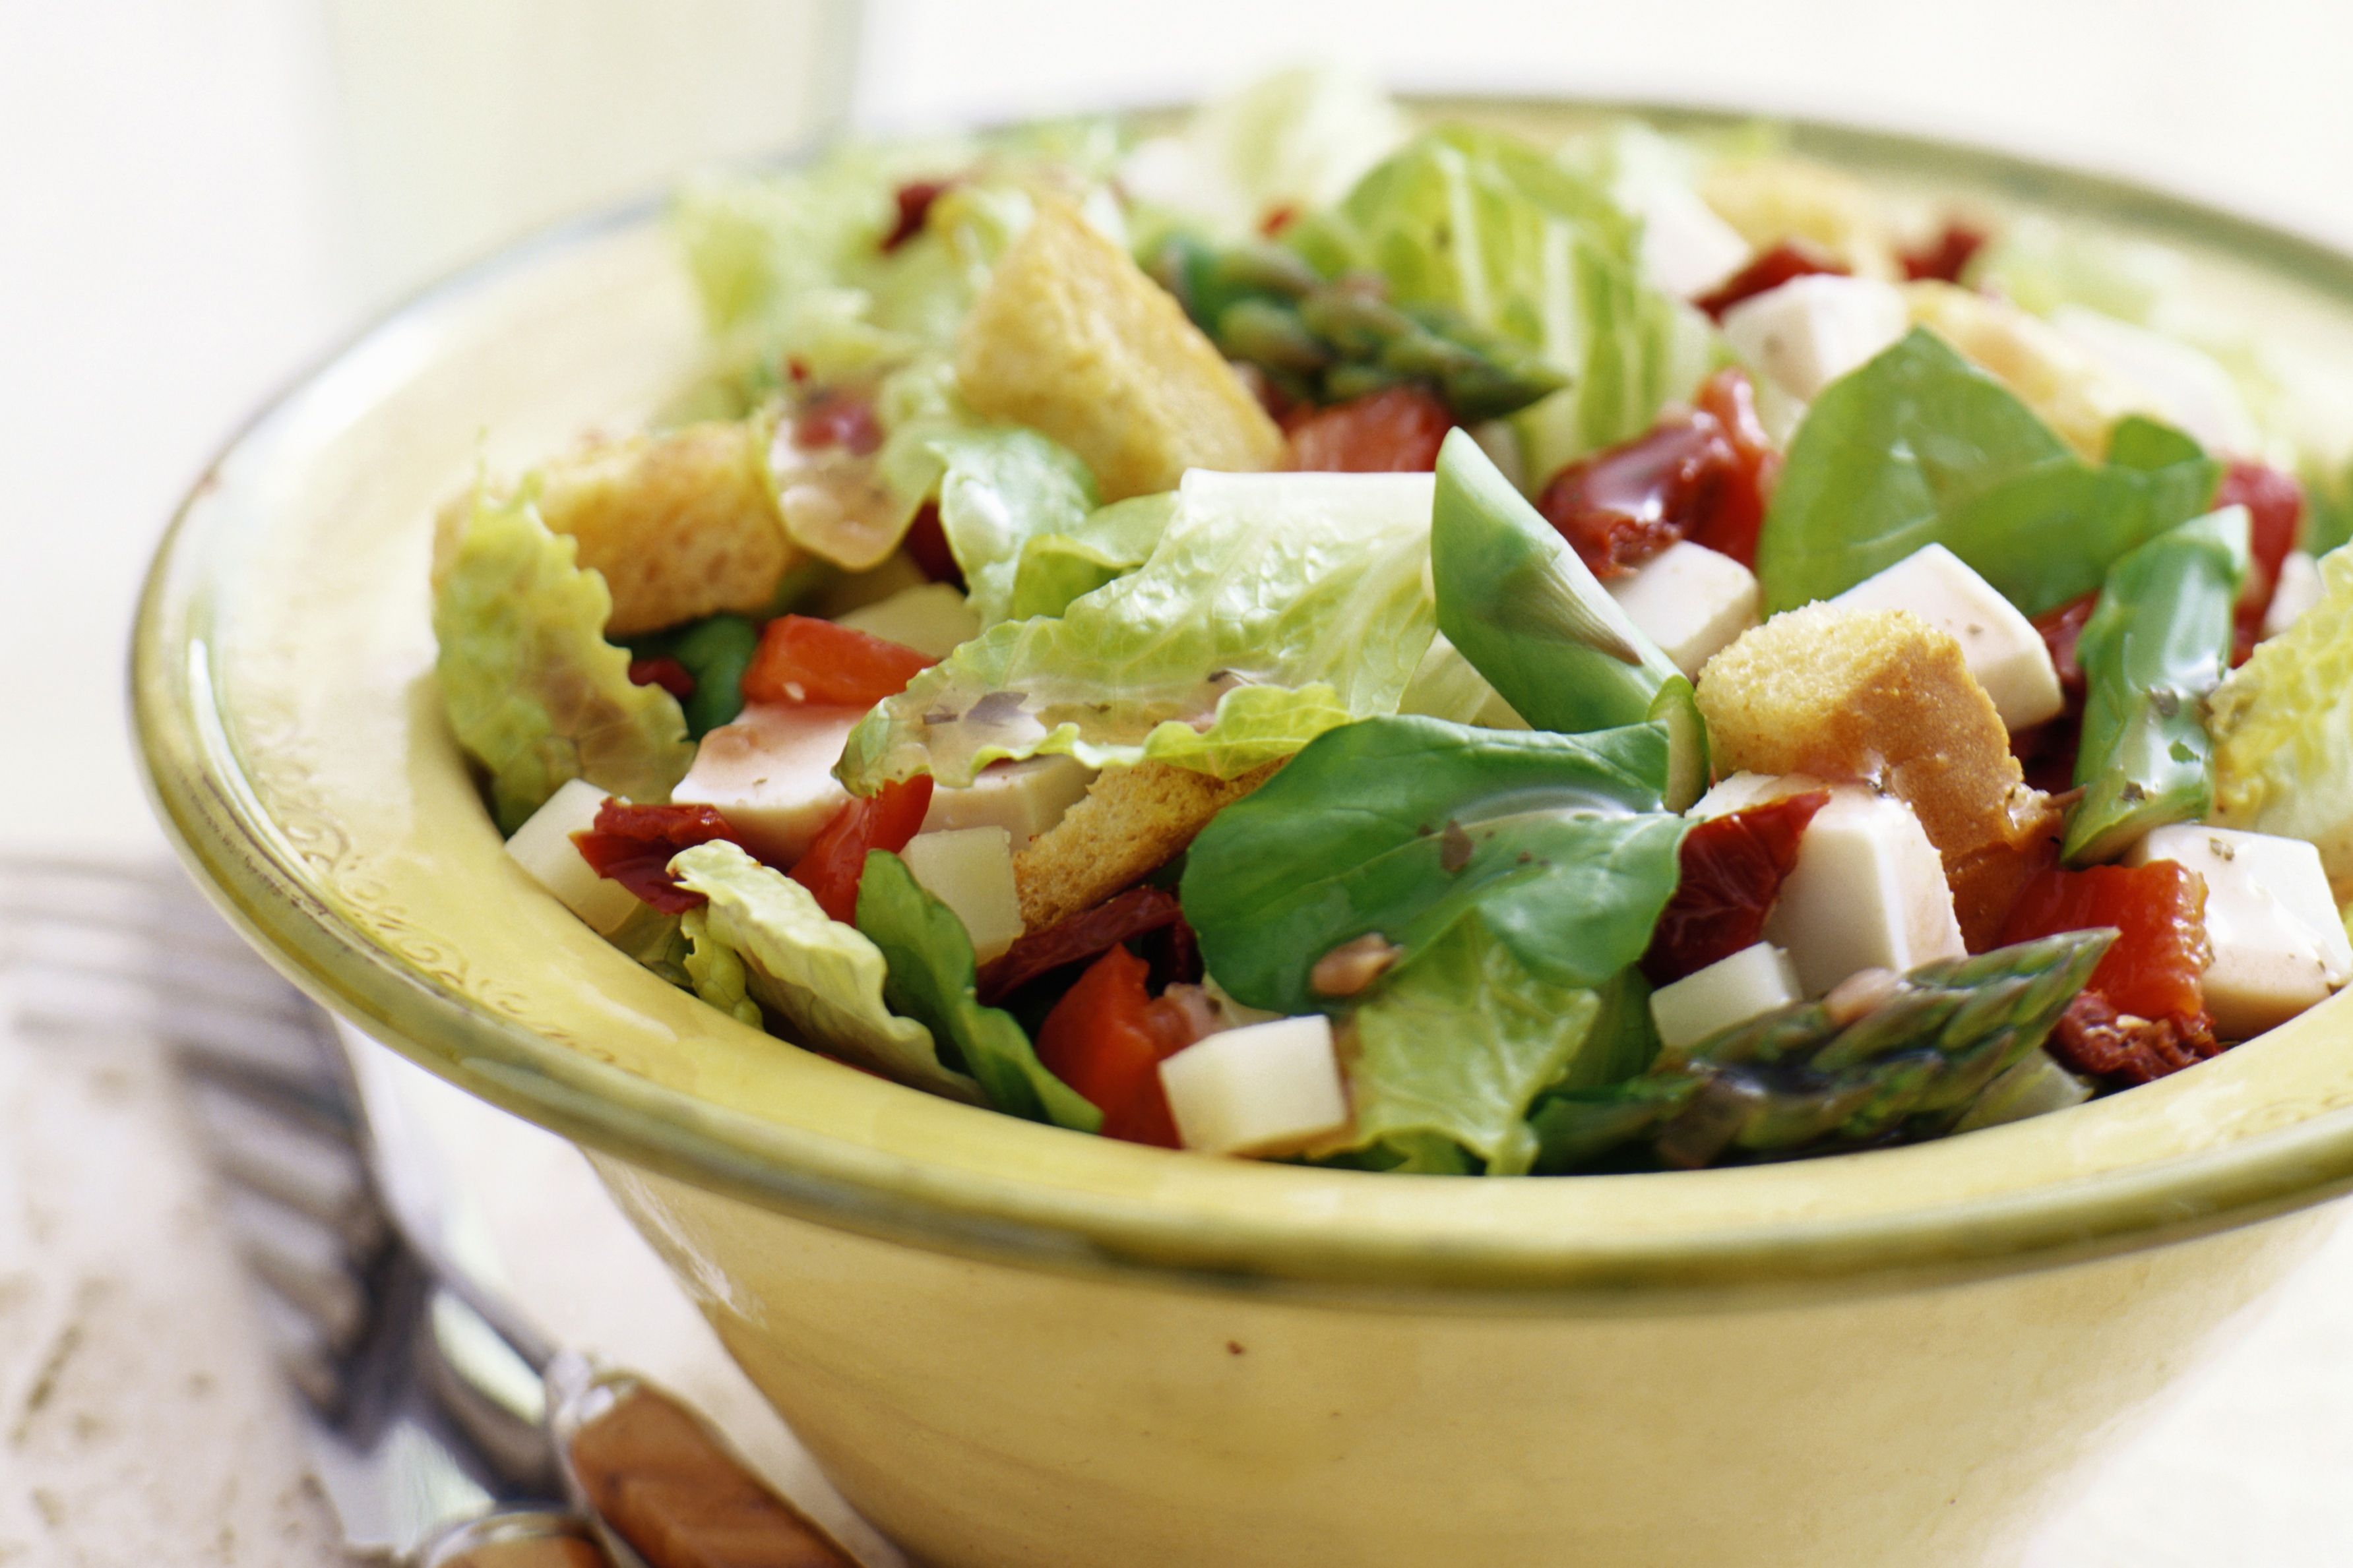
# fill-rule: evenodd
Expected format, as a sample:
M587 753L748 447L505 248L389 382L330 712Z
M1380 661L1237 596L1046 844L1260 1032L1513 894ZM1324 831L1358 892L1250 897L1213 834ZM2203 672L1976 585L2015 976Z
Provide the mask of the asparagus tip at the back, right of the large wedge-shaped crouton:
M1457 421L1478 423L1567 386L1527 348L1454 310L1395 306L1377 280L1327 282L1280 244L1214 249L1179 235L1153 275L1228 360L1257 364L1299 402L1346 402L1414 381Z

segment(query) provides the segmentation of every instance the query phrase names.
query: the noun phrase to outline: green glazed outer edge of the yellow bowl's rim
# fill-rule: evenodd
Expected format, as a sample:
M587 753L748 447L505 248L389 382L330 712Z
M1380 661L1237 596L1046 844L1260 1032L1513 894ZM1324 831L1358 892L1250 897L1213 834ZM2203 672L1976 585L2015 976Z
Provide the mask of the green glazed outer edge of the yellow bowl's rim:
M2341 296L2353 308L2353 256L2294 230L2113 174L1972 146L1941 136L1762 115L1741 108L1612 101L1546 94L1407 94L1424 115L1593 113L1633 115L1666 129L1732 129L1769 120L1791 148L1847 167L1944 172L2024 202L2064 193L2073 212L2169 230L2231 252L2259 270ZM1165 108L1113 110L1151 125ZM788 165L798 155L772 160ZM642 226L649 195L551 226L414 292L322 353L242 421L205 465L162 534L139 595L129 658L134 750L151 804L181 860L231 922L296 985L358 1030L393 1041L428 1070L482 1098L553 1126L626 1166L680 1178L838 1229L1019 1262L1026 1267L1146 1276L1198 1288L1249 1288L1447 1307L1619 1312L1631 1300L1741 1300L1817 1288L1911 1288L1995 1272L2158 1246L2254 1222L2353 1190L2353 1110L2332 1107L2289 1126L2155 1164L2024 1192L1885 1215L1786 1220L1649 1239L1621 1234L1449 1246L1442 1234L1351 1237L1297 1218L1228 1225L1214 1248L1186 1234L1184 1215L1101 1192L1016 1178L965 1185L864 1150L849 1135L816 1135L732 1112L569 1051L391 961L353 922L304 886L301 870L259 832L261 804L247 783L207 766L221 717L200 644L186 635L191 585L200 581L205 496L224 465L292 418L304 397L372 343L529 273L548 256ZM551 1056L555 1053L555 1056ZM880 1084L878 1091L920 1093ZM991 1114L993 1112L979 1112ZM1056 1135L1002 1117L1007 1138ZM1106 1150L1122 1159L1184 1159ZM1842 1161L1878 1154L1835 1157ZM1812 1161L1824 1164L1824 1161ZM1706 1173L1577 1178L1694 1180ZM1264 1168L1271 1182L1398 1182L1348 1171ZM1485 1241L1485 1239L1482 1239Z

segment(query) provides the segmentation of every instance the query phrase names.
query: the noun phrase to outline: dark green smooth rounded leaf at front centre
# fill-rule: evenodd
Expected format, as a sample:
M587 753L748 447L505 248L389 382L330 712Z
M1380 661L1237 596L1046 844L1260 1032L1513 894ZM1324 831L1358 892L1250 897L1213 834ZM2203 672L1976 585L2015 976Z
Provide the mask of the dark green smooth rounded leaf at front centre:
M1689 827L1661 809L1664 724L1586 736L1365 719L1329 731L1186 853L1181 900L1235 999L1337 1006L1315 961L1379 933L1412 961L1478 914L1551 985L1642 957Z

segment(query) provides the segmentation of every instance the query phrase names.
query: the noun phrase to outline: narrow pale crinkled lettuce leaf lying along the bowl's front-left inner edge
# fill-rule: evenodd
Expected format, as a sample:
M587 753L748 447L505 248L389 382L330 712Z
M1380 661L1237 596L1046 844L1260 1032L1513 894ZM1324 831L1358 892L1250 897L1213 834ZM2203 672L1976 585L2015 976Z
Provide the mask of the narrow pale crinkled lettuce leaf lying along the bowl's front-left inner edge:
M776 1011L795 1041L915 1088L979 1100L979 1086L939 1060L932 1032L882 1004L882 950L826 919L809 889L725 839L682 851L671 875L711 900L704 933L741 957L748 994ZM704 959L711 973L715 961ZM708 997L704 980L696 994Z

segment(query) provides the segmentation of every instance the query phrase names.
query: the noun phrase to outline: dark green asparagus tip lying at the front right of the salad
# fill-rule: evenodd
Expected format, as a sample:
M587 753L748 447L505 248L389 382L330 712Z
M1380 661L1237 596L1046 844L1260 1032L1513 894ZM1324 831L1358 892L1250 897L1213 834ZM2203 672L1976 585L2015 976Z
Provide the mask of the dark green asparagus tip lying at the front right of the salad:
M1638 1079L1555 1093L1529 1117L1537 1168L1642 1152L1697 1168L1948 1133L2042 1044L2113 940L2068 931L1927 964L1861 1016L1835 994L1786 1006L1666 1051Z

